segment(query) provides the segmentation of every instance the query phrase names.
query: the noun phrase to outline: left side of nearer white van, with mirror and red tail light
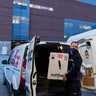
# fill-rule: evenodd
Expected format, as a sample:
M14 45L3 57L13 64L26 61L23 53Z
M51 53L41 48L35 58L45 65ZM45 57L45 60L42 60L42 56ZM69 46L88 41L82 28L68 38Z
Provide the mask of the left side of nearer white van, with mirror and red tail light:
M3 83L8 87L10 96L24 96L25 90L25 70L28 43L16 46L8 60L3 60L4 72Z

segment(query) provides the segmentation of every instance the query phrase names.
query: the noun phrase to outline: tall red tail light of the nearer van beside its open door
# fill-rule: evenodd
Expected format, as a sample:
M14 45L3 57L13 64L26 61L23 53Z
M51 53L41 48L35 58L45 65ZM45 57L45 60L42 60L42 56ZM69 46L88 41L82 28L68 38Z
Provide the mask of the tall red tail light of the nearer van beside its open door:
M26 60L23 60L21 67L21 83L25 84L25 76L26 76Z

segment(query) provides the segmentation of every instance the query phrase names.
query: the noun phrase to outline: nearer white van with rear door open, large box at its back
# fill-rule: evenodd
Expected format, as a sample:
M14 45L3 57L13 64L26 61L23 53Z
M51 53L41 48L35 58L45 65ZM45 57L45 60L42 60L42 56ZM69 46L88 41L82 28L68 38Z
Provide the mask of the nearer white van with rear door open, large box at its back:
M64 42L39 42L16 46L5 64L3 82L10 96L61 96L67 72L70 46ZM25 86L26 85L26 86Z

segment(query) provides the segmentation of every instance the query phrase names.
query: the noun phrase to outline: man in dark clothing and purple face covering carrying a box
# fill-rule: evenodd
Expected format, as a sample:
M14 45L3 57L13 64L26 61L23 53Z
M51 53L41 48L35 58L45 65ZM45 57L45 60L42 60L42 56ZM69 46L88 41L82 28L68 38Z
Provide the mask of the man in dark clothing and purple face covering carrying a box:
M68 72L63 76L65 82L64 96L81 96L80 68L82 58L78 51L78 43L72 42L68 63Z

